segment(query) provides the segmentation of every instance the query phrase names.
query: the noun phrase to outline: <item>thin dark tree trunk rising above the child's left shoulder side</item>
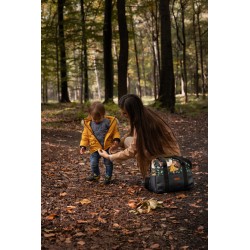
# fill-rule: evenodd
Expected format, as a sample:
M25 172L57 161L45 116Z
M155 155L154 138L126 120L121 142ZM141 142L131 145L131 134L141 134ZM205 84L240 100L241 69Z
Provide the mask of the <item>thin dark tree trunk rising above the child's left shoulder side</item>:
M81 4L81 19L82 19L82 53L81 53L81 98L83 94L83 84L84 84L84 102L89 100L89 77L88 77L88 52L87 52L87 36L86 36L86 26L85 26L85 11L84 11L84 0L80 0ZM84 79L84 81L83 81Z

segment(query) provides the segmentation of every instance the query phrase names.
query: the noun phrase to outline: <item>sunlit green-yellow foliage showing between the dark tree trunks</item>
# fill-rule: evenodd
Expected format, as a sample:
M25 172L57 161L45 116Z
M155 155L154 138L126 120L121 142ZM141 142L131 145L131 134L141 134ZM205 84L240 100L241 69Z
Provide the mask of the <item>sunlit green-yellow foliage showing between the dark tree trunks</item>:
M170 1L171 2L171 1ZM187 60L187 83L188 93L194 92L194 73L195 73L195 44L194 44L194 26L193 26L193 1L186 1L185 7L185 36L186 36L186 60ZM202 42L204 74L208 71L208 4L206 0L194 0L197 6L200 6L200 27L201 41L198 39L198 30L196 28L197 43ZM103 21L104 21L104 3L100 0L85 0L85 37L87 39L88 54L88 80L89 92L92 100L104 98L104 70L103 70ZM113 2L112 15L112 48L114 60L114 97L117 94L117 59L119 55L119 35L117 24L116 3ZM173 8L172 8L173 7ZM158 71L154 72L153 52L156 50L156 24L160 24L159 2L152 0L129 0L126 2L126 17L129 31L129 63L128 78L130 93L137 93L138 70L136 65L136 56L134 49L134 37L137 45L137 57L139 60L140 85L142 95L153 96L154 80L158 82ZM172 22L172 46L173 62L176 82L176 93L181 93L181 58L183 52L177 41L176 24L173 14L177 16L177 25L181 28L181 15L179 1L175 5L170 4L171 22ZM132 30L132 21L134 31ZM41 5L41 80L42 93L48 95L43 101L58 101L58 83L60 84L60 68L58 62L60 53L58 49L58 16L57 1L42 1ZM159 28L159 27L158 27ZM80 11L80 1L66 1L64 6L64 32L67 60L67 77L70 100L80 100L80 85L82 83L81 55L82 55L82 16ZM160 34L159 34L160 35ZM181 33L180 33L181 35ZM182 36L182 35L181 35ZM183 39L182 39L183 40ZM153 49L154 48L154 49ZM200 53L200 51L198 51ZM200 72L199 59L199 91L201 89L202 78ZM205 81L207 85L207 80ZM100 92L99 92L100 91ZM100 95L99 95L100 93ZM144 96L143 96L144 98ZM152 97L151 97L152 98ZM147 98L146 98L147 99ZM146 105L152 104L152 101L145 100ZM156 108L160 108L155 103ZM179 104L178 104L179 105ZM178 106L177 105L177 106ZM112 105L111 105L112 106Z

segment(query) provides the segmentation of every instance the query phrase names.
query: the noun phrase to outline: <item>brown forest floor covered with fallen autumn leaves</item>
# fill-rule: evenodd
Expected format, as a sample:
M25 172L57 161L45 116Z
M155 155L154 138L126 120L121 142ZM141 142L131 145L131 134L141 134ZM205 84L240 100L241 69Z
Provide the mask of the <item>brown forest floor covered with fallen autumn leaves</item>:
M134 159L114 165L110 185L102 178L86 181L89 153L84 159L79 154L79 116L42 108L42 249L208 249L207 112L162 116L173 128L182 155L193 163L192 190L147 191ZM122 121L119 127L123 135L128 124ZM102 163L100 168L104 175ZM162 206L134 213L137 203L151 198Z

